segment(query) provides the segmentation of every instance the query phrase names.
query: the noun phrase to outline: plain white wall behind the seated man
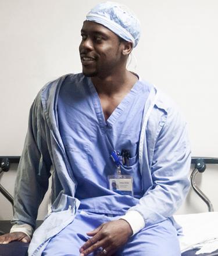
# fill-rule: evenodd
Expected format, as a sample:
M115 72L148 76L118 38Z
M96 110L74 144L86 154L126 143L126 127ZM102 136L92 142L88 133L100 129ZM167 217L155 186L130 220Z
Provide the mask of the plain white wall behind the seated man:
M38 90L65 73L81 71L78 55L85 13L99 1L0 1L0 155L20 155L28 109ZM192 155L218 157L218 1L120 0L141 20L135 69L166 91L187 119ZM134 70L135 62L130 65ZM217 167L202 186L215 195ZM12 190L15 173L0 181ZM13 176L13 177L10 177ZM10 177L10 178L9 178ZM212 182L212 183L210 183ZM216 203L216 198L214 198ZM0 218L9 218L0 195ZM205 209L190 194L182 212ZM216 205L218 211L218 205ZM43 215L43 214L42 214Z

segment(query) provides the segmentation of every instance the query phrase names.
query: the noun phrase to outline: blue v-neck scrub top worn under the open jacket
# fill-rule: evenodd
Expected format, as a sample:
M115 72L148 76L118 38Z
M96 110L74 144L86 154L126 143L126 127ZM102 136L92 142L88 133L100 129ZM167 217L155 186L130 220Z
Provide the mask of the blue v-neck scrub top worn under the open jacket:
M149 87L138 80L106 120L98 93L89 77L78 83L67 77L58 98L58 125L67 157L77 181L75 197L80 209L102 214L125 214L142 197L138 144ZM130 165L121 163L121 174L133 177L134 196L108 188L116 166L113 150L130 151Z

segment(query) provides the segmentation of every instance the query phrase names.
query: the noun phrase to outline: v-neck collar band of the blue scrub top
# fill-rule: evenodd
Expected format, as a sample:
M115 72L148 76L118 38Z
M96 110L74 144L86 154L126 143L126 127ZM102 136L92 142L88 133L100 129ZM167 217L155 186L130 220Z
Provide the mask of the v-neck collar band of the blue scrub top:
M131 88L130 92L121 100L120 104L115 108L115 110L112 112L109 118L105 121L105 116L103 115L103 109L102 109L99 95L90 77L88 77L88 85L91 90L92 102L94 105L95 113L97 115L99 126L101 128L102 133L105 133L106 129L112 128L116 120L119 119L123 111L128 108L128 106L130 105L130 102L142 89L142 84L140 83L140 79L138 79L134 84L134 86Z

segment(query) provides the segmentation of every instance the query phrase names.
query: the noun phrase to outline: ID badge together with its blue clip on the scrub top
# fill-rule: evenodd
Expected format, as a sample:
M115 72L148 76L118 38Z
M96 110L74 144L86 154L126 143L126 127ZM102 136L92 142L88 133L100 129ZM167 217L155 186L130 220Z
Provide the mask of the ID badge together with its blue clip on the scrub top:
M133 196L133 177L121 174L119 152L114 150L110 157L116 165L116 175L108 176L109 189L121 195Z

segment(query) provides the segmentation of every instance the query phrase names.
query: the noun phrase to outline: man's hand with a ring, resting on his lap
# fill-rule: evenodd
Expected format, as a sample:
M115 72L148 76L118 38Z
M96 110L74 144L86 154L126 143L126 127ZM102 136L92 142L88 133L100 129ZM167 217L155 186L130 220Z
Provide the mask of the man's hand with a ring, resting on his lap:
M85 256L98 248L103 250L98 255L113 255L117 249L123 246L133 233L128 222L124 219L110 221L97 227L97 229L88 232L88 236L92 236L81 248L80 256Z

